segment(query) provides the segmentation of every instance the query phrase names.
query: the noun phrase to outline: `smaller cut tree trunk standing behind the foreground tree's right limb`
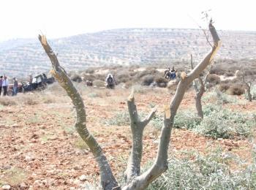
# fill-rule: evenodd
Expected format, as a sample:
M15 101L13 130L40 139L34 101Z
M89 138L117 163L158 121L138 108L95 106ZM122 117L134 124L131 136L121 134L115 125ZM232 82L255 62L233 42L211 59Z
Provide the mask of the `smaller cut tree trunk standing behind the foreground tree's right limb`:
M191 69L194 69L192 54L190 54L190 64L191 64ZM195 107L197 109L197 116L202 119L203 119L202 96L206 92L206 83L207 83L208 75L210 74L210 72L211 72L211 68L209 69L209 72L206 75L204 81L200 76L193 81L193 86L195 88ZM197 86L196 80L198 80L200 83L199 88Z

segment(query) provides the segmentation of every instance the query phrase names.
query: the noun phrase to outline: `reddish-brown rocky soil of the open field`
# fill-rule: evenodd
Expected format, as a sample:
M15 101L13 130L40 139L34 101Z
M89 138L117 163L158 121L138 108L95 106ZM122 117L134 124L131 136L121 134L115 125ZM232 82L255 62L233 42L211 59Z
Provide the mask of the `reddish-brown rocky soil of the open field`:
M73 127L75 112L70 100L59 86L51 89L23 95L32 99L30 102L26 99L26 103L18 94L20 97L11 98L15 103L0 107L2 189L80 189L86 183L98 181L97 164ZM132 145L131 134L127 124L117 126L110 121L114 117L120 119L116 116L118 113L127 112L129 90L80 88L80 92L86 103L89 131L102 145L115 175L121 178ZM167 88L137 88L135 101L139 112L146 113L157 104L161 115L172 94ZM181 109L194 110L193 97L194 91L189 91ZM255 102L225 106L243 112L256 111ZM143 164L156 156L159 132L152 124L147 126ZM252 145L247 139L213 140L186 129L173 129L170 156L179 156L180 151L206 153L219 146L245 160L250 159Z

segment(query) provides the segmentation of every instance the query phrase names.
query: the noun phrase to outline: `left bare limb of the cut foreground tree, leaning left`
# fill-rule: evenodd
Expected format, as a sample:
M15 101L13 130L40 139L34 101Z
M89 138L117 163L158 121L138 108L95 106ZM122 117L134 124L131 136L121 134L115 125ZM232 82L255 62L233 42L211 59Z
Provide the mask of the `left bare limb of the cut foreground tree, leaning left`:
M70 97L70 99L72 99L72 103L75 105L75 110L77 113L75 129L77 130L78 134L80 134L80 137L82 137L82 139L89 146L94 155L94 159L96 159L97 164L99 165L102 188L106 190L120 189L120 187L118 187L116 178L113 176L110 164L102 151L102 148L86 128L86 108L83 104L82 97L78 93L77 89L73 86L71 80L67 76L67 72L59 64L58 58L56 57L56 54L53 53L50 45L48 45L46 37L39 35L39 41L41 42L42 47L45 49L45 53L47 53L48 57L50 58L53 66L53 69L51 70L52 75L56 77L61 87L67 91L67 95Z

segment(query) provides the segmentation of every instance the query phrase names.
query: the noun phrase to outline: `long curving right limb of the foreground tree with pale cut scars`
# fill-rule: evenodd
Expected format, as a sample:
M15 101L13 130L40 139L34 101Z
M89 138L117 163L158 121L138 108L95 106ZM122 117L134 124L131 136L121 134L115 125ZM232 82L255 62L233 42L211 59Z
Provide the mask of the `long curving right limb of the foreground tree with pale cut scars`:
M168 147L170 144L170 134L173 128L173 122L178 107L181 104L181 100L183 99L189 84L192 83L195 78L199 77L200 73L202 73L203 70L206 69L209 64L211 64L211 61L213 60L214 55L217 53L217 50L220 46L220 39L211 21L208 27L209 31L211 32L211 36L214 39L214 46L211 48L211 51L206 54L205 58L203 58L203 60L200 61L199 64L197 64L192 72L189 73L189 75L181 73L181 81L178 83L176 94L173 96L173 99L170 102L170 107L167 107L165 109L165 119L160 136L156 161L150 169L148 169L142 175L134 178L131 183L127 184L122 189L146 189L149 183L151 183L159 175L161 175L162 172L165 172L167 170L167 157Z

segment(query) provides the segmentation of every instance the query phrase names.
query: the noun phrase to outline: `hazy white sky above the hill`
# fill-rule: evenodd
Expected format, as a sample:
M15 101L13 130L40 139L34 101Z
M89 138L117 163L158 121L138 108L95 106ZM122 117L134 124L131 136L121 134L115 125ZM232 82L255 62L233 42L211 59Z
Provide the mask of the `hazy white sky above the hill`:
M1 0L0 41L113 28L197 28L212 9L217 29L256 31L255 0ZM193 19L192 19L193 18ZM200 23L201 24L201 23Z

